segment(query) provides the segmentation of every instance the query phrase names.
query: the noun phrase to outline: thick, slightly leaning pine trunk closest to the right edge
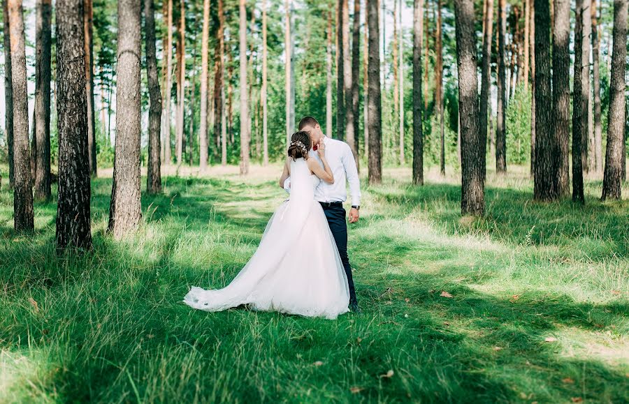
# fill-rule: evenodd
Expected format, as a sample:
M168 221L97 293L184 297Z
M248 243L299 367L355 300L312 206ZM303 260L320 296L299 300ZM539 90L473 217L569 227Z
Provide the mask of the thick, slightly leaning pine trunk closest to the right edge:
M627 58L627 0L614 0L614 48L612 50L612 78L609 82L609 117L607 118L607 150L603 174L602 200L621 199L625 110L625 61ZM13 31L13 30L12 30ZM13 46L13 41L11 43ZM12 47L13 50L13 47Z

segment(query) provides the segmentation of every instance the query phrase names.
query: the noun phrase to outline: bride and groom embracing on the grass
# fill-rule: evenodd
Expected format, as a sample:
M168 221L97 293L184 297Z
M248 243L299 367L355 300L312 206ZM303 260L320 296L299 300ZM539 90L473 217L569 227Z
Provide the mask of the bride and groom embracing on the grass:
M184 302L203 311L247 305L253 310L335 319L359 312L347 257L343 202L352 196L349 223L359 220L360 181L349 145L324 135L304 117L287 151L280 186L289 199L266 225L258 246L229 285L192 287Z

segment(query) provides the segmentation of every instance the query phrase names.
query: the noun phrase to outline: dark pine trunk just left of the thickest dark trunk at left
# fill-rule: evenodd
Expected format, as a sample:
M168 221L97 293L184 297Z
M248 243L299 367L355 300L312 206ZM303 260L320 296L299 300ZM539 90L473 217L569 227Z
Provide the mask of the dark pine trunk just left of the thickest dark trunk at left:
M37 1L34 131L35 198L50 200L50 0Z

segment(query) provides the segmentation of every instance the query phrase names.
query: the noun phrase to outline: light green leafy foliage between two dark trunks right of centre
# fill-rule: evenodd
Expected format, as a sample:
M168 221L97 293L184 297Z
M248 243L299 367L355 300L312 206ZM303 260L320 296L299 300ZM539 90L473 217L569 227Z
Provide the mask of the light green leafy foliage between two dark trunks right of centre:
M530 160L530 103L530 91L519 85L507 105L507 163Z

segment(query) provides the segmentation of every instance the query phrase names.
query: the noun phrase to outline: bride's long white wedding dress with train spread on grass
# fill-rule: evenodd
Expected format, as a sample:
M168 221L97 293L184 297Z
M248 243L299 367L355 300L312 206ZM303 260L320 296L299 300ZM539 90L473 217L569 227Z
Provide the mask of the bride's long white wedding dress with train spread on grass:
M291 162L290 199L268 221L253 257L223 289L192 287L184 302L203 311L247 304L259 311L328 319L347 313L347 276L315 201L319 181L303 158Z

